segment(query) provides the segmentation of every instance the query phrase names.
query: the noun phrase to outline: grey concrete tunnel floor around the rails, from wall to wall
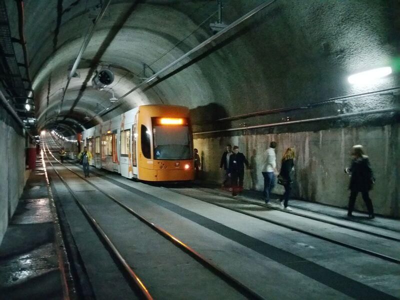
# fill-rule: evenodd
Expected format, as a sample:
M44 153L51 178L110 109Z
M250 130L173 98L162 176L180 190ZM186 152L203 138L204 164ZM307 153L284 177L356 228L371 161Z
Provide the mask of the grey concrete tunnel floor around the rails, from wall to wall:
M65 166L75 173L49 153L43 157L68 261L58 260L55 250L60 247L57 218L38 159L0 247L1 295L6 298L56 299L63 292L81 298L140 298L74 197L154 298L253 298L180 253L101 190L173 234L255 297L400 297L400 220L370 220L362 212L347 219L343 208L300 200L290 200L293 210L285 212L276 201L263 204L253 191L232 197L201 182L146 184L96 168L84 181L73 161ZM65 265L70 267L60 271Z

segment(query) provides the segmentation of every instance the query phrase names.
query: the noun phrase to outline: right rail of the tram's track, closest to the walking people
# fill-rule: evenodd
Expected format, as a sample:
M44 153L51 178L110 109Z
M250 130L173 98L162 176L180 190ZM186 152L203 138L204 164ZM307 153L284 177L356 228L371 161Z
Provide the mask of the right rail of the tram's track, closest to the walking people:
M191 188L196 189L196 190L200 190L200 191L203 191L203 192L211 193L211 194L214 194L214 195L231 198L229 195L226 195L226 194L223 194L223 193L220 193L220 192L204 190L202 188L196 188L196 187L191 187ZM287 210L280 209L278 207L269 206L269 205L266 205L266 204L263 204L263 203L258 203L258 202L254 202L254 201L251 201L251 200L246 200L246 199L243 199L243 198L234 198L234 199L236 199L237 201L250 203L250 204L254 204L254 205L258 205L258 206L262 206L262 207L268 207L268 208L271 208L271 209L274 209L274 210L278 210L278 211L282 211L282 212L298 215L298 216L301 216L301 217L305 217L305 218L308 218L308 219L324 222L324 223L327 223L327 224L330 224L330 225L335 225L335 226L343 227L343 228L346 228L346 229L351 229L351 230L354 230L354 231L359 231L359 232L362 232L362 233L374 235L374 236L377 236L377 237L380 237L380 238L390 239L390 240L394 240L394 241L400 241L400 238L397 238L397 237L384 235L384 234L380 234L380 233L364 230L364 229L361 229L361 228L357 228L357 227L353 227L353 226L349 226L349 225L345 225L345 224L336 223L334 221L324 220L324 219L316 217L316 216L307 215L307 214L303 214L303 213L296 212L296 211L287 211ZM298 207L295 207L295 208L301 209L301 210L305 210L305 211L310 211L310 212L317 213L317 214L327 215L327 214L318 213L318 212L315 212L315 211L312 211L312 210L308 210L308 209L303 209L303 208L298 208ZM327 215L327 216L329 216L329 215ZM343 218L343 219L347 220L347 221L350 221L347 218ZM370 226L372 226L372 225L370 225ZM382 228L382 227L378 227L378 226L373 226L373 227L381 228L381 229L385 229L385 230L390 230L390 229ZM390 231L393 231L393 230L390 230ZM394 232L397 232L397 231L394 231Z

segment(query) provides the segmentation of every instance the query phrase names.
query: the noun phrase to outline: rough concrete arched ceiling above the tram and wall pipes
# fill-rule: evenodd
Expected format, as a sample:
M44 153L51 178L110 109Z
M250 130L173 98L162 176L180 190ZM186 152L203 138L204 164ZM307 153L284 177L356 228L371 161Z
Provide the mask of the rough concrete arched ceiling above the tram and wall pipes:
M201 123L210 115L215 119L303 105L400 83L396 73L374 85L346 81L350 73L393 64L400 48L396 1L277 0L100 117L96 114L110 105L111 92L91 86L94 72L109 67L115 74L109 87L116 97L123 95L212 35L209 23L216 21L216 1L112 0L62 105L68 68L104 0L50 2L24 1L39 128L59 124L70 133L78 130L76 126L87 128L150 103L186 105ZM264 1L223 2L223 21L231 23ZM6 4L16 36L16 5L14 0ZM15 51L22 57L17 47ZM145 73L144 63L151 66Z

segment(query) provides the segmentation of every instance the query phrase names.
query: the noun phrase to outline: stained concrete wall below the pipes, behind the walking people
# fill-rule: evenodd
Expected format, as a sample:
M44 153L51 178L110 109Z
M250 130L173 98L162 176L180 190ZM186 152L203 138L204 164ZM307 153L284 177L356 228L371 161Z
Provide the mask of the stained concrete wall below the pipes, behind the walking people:
M320 131L305 131L278 134L250 134L223 137L195 138L201 156L202 176L214 182L221 181L219 161L226 144L238 145L250 163L245 170L244 187L262 190L261 171L265 165L266 148L269 142L278 143L276 149L277 168L284 149L294 147L295 171L292 196L305 200L346 207L349 177L343 171L350 164L350 150L354 144L362 144L369 156L376 178L370 197L376 213L400 216L400 125L380 127L337 128ZM283 193L276 185L273 192ZM361 195L355 209L366 211ZM290 205L290 204L289 204Z

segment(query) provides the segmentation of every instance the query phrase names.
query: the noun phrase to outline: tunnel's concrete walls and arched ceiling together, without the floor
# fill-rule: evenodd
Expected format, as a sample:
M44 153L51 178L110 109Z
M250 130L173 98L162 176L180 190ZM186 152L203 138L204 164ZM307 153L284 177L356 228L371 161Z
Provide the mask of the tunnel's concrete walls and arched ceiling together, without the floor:
M375 213L400 217L399 1L1 0L0 13L0 242L43 132L83 146L149 104L189 109L204 183L221 184L230 144L250 163L243 188L261 192L270 142L278 165L293 148L292 197L307 203L346 207L360 144Z

